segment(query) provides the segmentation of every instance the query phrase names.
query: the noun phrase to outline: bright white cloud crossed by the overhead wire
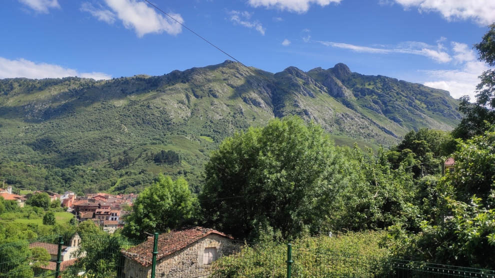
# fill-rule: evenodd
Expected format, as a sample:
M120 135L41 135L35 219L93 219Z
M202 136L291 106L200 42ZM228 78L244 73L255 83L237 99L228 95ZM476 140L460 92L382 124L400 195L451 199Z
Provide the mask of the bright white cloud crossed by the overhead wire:
M122 20L127 29L134 29L138 37L148 33L161 33L176 35L182 31L182 26L170 19L158 14L154 8L143 1L138 0L105 0L108 7L115 12L118 19ZM180 23L184 20L178 13L168 13ZM99 18L98 18L99 19Z

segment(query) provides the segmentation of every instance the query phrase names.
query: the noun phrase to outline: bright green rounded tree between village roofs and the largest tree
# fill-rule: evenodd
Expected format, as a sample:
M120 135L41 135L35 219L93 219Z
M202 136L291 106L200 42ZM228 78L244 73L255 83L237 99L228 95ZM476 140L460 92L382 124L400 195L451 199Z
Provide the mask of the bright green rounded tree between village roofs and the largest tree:
M137 197L132 212L126 218L124 234L144 238L144 232L165 232L178 228L193 218L196 208L196 198L183 178L172 181L170 177L160 175L157 182Z

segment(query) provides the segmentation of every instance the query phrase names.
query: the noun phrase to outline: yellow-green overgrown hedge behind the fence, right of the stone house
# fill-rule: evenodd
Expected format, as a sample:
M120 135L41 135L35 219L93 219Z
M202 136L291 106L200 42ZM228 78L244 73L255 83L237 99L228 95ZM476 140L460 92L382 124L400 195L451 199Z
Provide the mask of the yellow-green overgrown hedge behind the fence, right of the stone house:
M389 252L380 247L381 232L348 233L338 237L306 237L292 249L294 277L386 277ZM213 264L212 277L285 277L286 245L245 245Z

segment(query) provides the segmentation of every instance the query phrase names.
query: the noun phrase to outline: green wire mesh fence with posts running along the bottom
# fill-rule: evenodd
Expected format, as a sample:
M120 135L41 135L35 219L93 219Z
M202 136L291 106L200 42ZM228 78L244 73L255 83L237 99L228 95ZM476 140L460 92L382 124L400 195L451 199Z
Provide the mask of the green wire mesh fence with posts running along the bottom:
M275 243L204 238L158 250L120 235L86 235L76 248L50 236L0 245L0 278L495 278L495 271ZM163 246L160 246L163 248Z

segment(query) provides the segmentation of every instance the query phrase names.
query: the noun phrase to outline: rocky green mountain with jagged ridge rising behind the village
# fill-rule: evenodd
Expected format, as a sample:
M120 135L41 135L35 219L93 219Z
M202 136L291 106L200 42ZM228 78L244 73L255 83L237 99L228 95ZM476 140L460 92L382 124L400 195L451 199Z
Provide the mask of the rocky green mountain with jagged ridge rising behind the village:
M239 63L95 81L0 80L0 178L17 187L136 192L157 173L195 190L209 151L236 130L299 115L337 144L390 146L410 129L450 130L447 91L342 63L270 73Z

